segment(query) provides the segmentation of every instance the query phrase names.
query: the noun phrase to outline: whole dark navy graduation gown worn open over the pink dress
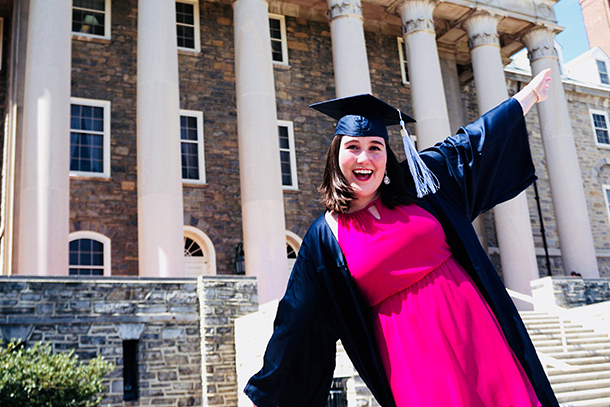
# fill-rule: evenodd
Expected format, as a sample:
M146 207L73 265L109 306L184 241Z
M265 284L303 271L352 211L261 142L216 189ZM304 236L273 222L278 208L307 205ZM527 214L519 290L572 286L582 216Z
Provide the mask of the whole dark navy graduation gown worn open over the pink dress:
M417 205L442 224L454 255L490 305L542 405L558 406L517 309L471 225L481 212L517 196L536 179L521 105L511 98L420 155L441 189ZM248 382L246 394L258 407L324 406L337 339L377 401L395 406L369 309L320 216L303 239L264 366Z

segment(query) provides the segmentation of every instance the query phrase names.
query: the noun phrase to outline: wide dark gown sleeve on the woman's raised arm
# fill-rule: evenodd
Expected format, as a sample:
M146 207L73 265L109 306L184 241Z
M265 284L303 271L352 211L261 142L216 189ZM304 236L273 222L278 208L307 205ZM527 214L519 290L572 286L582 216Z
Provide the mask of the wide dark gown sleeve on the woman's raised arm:
M536 180L523 110L514 98L420 155L441 180L443 196L471 221Z

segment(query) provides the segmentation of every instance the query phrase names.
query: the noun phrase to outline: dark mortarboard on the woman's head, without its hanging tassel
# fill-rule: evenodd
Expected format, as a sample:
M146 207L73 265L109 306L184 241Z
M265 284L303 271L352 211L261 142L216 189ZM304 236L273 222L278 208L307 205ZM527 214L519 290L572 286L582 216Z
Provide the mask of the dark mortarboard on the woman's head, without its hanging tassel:
M338 120L335 134L352 137L378 136L388 140L386 126L414 122L410 116L377 99L364 94L314 103L309 107Z

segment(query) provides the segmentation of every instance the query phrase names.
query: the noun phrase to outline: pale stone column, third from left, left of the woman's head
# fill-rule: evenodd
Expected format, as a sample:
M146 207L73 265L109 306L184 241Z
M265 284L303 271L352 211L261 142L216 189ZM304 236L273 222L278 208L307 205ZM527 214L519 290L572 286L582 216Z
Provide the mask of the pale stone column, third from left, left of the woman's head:
M244 254L261 304L280 298L288 281L268 7L264 0L233 2Z

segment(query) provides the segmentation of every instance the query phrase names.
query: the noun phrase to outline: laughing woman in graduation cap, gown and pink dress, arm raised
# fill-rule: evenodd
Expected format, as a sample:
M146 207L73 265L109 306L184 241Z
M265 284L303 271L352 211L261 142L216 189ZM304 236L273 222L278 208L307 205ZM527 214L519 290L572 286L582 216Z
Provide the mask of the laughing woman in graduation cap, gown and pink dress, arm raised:
M321 187L328 212L303 240L264 366L245 389L255 405L324 406L337 339L382 406L558 405L471 226L535 180L523 116L549 82L547 70L420 153L440 184L422 199L420 177L403 177L416 166L387 144L383 108L314 106L341 117Z

